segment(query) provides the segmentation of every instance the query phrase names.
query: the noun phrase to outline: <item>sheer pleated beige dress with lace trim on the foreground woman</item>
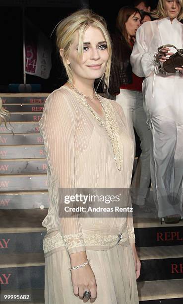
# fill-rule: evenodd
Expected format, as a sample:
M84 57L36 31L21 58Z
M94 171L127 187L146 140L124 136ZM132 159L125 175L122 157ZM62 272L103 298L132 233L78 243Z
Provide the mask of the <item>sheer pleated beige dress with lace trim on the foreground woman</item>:
M68 270L69 254L83 250L97 282L95 304L138 303L129 244L135 242L132 218L59 217L59 188L130 187L133 143L126 133L122 108L113 100L100 99L105 111L102 117L94 112L96 119L77 93L62 86L48 96L39 123L48 161L50 200L48 215L42 223L48 230L43 240L45 304L83 303L73 294ZM107 132L110 132L107 116L119 141L121 171Z

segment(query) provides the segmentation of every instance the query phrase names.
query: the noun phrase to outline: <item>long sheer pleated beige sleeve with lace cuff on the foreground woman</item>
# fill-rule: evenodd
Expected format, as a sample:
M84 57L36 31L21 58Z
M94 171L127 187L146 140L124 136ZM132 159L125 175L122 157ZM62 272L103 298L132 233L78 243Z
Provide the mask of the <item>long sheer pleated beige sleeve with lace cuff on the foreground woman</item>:
M85 246L79 217L62 217L60 211L63 210L60 208L63 202L59 189L74 188L74 133L77 120L73 98L64 91L56 90L48 96L39 125L48 161L49 209L53 209L53 213L56 209L65 247L70 254L84 251Z

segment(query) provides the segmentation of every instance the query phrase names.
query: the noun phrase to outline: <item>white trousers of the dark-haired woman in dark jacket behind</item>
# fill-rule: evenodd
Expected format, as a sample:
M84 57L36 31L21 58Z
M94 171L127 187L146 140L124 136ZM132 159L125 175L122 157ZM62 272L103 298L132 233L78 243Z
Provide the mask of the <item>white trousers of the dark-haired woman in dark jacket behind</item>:
M116 96L116 101L122 106L126 117L127 129L134 143L134 155L136 144L133 127L140 138L142 152L131 184L131 199L134 204L144 205L151 179L150 144L152 136L146 123L143 95L139 91L120 89L120 94Z

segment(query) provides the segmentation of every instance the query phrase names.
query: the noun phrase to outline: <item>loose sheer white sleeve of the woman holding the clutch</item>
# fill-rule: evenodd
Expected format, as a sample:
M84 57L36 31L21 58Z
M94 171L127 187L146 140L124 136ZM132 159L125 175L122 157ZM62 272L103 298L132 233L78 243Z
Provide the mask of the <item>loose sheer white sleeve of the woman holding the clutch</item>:
M145 22L136 31L136 40L130 56L132 72L139 77L147 77L155 69L154 53L148 52L149 40L153 37L151 22Z

